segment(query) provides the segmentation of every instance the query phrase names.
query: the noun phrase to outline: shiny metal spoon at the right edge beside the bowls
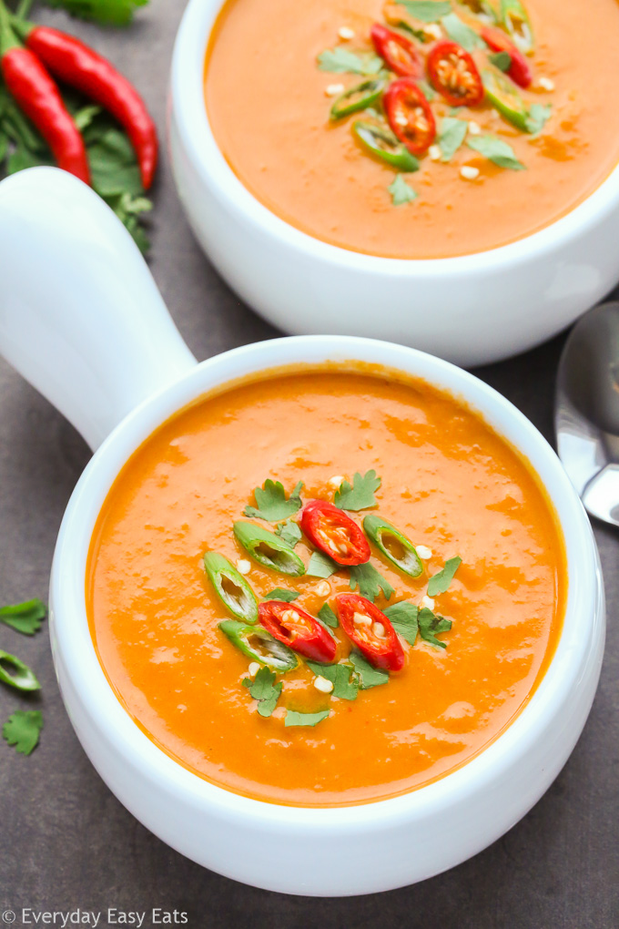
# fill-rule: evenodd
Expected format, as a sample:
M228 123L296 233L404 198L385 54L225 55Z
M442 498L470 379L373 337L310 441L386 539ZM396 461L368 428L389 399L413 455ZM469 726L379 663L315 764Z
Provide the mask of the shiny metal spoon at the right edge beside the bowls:
M555 399L561 462L587 511L619 526L619 302L576 323Z

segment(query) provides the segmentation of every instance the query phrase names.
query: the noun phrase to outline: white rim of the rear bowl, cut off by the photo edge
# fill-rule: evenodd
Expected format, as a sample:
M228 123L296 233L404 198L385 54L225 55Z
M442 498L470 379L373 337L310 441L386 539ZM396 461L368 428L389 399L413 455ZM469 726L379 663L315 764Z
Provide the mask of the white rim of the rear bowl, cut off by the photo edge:
M388 258L353 252L323 242L272 213L248 190L217 145L206 111L203 93L204 56L217 14L226 0L189 0L181 20L172 59L171 98L173 118L191 164L207 183L213 196L244 216L258 234L268 234L281 245L292 246L320 261L361 273L394 276L435 274L468 276L480 270L500 270L520 265L533 255L543 257L597 225L619 208L619 163L600 186L568 213L544 229L485 252L446 258Z

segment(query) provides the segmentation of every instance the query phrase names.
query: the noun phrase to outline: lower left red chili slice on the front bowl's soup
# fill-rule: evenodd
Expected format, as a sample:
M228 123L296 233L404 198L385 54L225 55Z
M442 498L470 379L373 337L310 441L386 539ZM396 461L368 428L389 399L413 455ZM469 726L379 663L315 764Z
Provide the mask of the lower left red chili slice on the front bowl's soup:
M337 642L304 609L282 600L265 600L258 607L258 618L268 633L303 658L324 664L334 660Z

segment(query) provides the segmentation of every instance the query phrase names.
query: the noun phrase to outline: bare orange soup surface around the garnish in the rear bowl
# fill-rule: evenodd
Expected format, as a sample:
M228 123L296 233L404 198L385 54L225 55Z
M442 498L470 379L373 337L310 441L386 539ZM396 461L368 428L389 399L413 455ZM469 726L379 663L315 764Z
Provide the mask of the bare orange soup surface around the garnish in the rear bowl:
M404 10L388 7L392 19L394 8ZM413 203L393 205L393 168L362 151L351 131L355 118L367 114L329 121L330 89L347 89L360 77L321 71L316 63L327 49L370 52L370 29L385 22L380 0L228 0L205 68L217 144L269 210L342 248L440 258L522 239L581 203L619 160L616 56L610 53L619 36L617 0L530 0L526 7L535 34L527 58L533 83L515 89L527 107L550 105L548 122L531 135L487 101L453 111L435 98L439 130L445 117L456 116L472 121L476 136L448 164L426 153L419 171L398 176L416 194ZM453 10L478 28L456 2ZM354 37L342 39L342 27ZM420 46L422 57L430 46ZM487 49L472 54L483 71ZM480 134L507 142L525 170L500 167L471 150L467 142ZM462 167L474 177L463 177Z

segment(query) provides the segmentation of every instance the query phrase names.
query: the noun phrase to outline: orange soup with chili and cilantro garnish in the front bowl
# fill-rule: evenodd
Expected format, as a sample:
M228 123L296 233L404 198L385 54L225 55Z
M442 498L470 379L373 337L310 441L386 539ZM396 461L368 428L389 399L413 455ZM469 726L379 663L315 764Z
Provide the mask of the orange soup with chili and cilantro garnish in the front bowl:
M175 415L114 483L86 584L137 726L201 778L289 805L375 801L471 760L543 676L565 591L529 466L456 399L373 369L274 372Z

